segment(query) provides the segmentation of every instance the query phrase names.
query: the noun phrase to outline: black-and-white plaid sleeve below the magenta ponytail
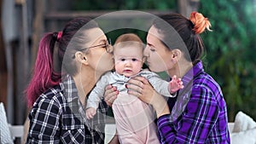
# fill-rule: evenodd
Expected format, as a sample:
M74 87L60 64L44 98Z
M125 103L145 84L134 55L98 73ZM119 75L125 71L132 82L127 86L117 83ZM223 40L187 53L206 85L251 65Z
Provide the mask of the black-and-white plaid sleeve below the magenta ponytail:
M42 96L41 96L42 97ZM44 96L43 96L44 97ZM61 107L53 99L40 98L30 118L30 130L27 143L59 143L60 142Z

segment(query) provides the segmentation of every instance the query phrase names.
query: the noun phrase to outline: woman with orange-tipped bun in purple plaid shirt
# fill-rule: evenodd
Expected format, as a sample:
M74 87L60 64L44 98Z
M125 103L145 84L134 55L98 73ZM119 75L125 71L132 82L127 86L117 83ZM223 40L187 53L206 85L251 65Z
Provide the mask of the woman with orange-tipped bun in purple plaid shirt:
M144 55L149 69L166 71L170 78L176 75L184 85L167 101L146 78L133 78L127 85L129 94L154 107L160 143L230 143L224 95L201 62L200 34L212 31L210 26L202 14L192 12L189 19L181 14L162 15L148 30ZM113 89L106 91L113 94Z

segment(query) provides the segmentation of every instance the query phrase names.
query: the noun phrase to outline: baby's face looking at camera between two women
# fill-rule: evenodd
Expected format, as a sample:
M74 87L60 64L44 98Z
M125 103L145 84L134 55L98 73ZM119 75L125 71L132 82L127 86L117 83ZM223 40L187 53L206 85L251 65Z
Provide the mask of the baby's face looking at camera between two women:
M134 45L116 48L113 51L115 71L125 77L131 77L141 71L143 49Z

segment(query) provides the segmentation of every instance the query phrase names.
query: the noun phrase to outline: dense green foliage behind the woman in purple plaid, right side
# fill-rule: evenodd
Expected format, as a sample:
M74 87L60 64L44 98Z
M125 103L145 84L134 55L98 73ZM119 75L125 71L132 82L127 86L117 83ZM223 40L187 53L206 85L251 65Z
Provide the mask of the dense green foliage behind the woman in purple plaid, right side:
M243 111L256 118L256 3L253 0L201 0L199 12L212 23L203 33L207 72L221 85L229 119Z

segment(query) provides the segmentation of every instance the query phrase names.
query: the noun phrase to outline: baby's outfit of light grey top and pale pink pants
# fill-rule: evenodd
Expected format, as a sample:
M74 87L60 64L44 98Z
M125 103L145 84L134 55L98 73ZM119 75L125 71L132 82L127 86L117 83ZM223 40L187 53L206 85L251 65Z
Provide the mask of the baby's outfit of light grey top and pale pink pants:
M168 90L169 83L154 72L143 70L137 76L147 78L148 82L160 95L173 97ZM105 73L91 91L86 108L97 108L99 101L103 99L106 86L112 84L119 90L119 95L113 102L112 107L120 143L158 144L160 142L154 124L156 118L154 108L139 100L136 96L127 94L125 84L129 79L117 72Z

